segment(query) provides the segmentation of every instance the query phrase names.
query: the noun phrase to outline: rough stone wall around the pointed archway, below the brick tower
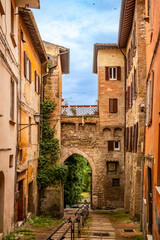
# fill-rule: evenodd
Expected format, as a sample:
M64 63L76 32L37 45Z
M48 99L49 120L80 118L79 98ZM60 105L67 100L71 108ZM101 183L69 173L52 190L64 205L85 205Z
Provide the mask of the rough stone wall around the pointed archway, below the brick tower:
M123 129L110 127L100 131L99 118L62 117L61 119L61 161L74 153L85 157L92 168L92 208L114 209L123 207L124 198L124 154L108 152L108 140L121 140ZM116 173L107 172L107 161L117 164ZM113 179L120 180L120 186L112 186Z

